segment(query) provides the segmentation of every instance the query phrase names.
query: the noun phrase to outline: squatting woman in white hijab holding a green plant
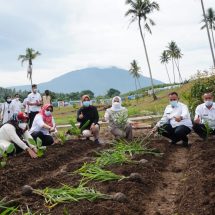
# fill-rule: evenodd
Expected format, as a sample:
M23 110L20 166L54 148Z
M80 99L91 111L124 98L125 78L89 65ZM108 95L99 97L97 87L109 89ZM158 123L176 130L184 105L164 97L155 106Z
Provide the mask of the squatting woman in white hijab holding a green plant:
M128 122L128 110L122 107L119 96L112 99L112 107L105 112L105 121L109 123L110 132L115 138L132 139L132 127Z

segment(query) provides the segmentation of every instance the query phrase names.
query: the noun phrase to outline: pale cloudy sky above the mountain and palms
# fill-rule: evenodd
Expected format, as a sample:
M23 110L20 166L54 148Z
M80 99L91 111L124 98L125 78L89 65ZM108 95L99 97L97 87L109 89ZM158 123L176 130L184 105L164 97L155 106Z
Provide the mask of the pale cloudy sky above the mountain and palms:
M212 58L206 30L200 30L200 0L157 0L150 15L156 25L145 33L154 78L168 82L160 55L171 41L183 53L183 79L209 70ZM214 0L204 0L205 8ZM149 76L138 24L125 17L125 0L0 0L0 86L30 84L27 64L17 60L26 48L42 53L33 62L33 82L42 83L86 67L129 69L137 60ZM172 78L172 67L168 65ZM178 78L178 77L177 77Z

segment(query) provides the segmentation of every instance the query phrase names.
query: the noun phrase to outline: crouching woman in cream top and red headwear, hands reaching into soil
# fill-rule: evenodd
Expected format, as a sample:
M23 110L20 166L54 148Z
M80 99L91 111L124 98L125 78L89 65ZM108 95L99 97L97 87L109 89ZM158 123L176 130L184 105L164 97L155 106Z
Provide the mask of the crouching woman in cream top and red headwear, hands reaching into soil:
M7 151L11 144L14 144L16 153L26 151L31 158L37 158L37 149L29 143L32 139L28 131L28 116L23 112L13 114L11 120L0 128L0 151Z

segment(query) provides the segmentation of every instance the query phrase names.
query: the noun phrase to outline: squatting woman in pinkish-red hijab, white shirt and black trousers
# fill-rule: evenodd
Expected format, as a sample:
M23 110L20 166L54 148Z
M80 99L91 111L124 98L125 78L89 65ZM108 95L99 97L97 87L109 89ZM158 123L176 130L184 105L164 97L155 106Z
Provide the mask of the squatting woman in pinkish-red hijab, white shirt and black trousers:
M46 104L42 107L40 112L35 116L30 133L34 140L40 138L43 146L52 145L54 139L51 132L56 131L54 118L52 116L53 106Z

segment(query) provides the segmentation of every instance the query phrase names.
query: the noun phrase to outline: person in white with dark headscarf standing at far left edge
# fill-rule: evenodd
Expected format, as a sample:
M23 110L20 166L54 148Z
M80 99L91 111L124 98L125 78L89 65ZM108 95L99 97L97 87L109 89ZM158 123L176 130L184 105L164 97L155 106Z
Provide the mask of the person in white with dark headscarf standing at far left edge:
M4 124L12 118L15 110L10 96L5 97L5 102L2 104L1 110L0 120L2 120L2 124Z

